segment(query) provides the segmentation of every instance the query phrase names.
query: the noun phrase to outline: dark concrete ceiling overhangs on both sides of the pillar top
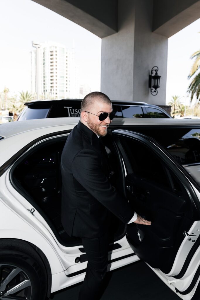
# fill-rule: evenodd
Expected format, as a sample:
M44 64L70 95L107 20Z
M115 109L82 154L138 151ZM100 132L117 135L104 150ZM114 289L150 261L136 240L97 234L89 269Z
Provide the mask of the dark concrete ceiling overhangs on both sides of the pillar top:
M123 0L32 1L55 11L100 38L118 31L118 2L123 5ZM148 1L153 4L152 32L168 38L200 18L200 0Z

